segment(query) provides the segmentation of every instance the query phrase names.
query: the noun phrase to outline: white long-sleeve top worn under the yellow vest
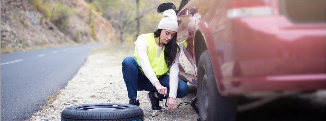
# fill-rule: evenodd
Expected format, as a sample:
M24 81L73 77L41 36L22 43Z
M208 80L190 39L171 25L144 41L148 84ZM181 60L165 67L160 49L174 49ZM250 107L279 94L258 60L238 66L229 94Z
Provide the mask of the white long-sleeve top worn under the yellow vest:
M157 46L157 59L162 53L163 47ZM136 40L136 51L138 53L140 66L145 74L145 76L148 78L148 80L154 85L155 82L159 82L156 78L156 75L154 73L153 68L150 65L148 56L147 56L147 44L144 40L141 38L138 38ZM177 53L177 56L174 59L174 63L170 67L170 92L169 92L169 98L176 98L177 97L177 89L178 89L178 83L179 83L179 55L180 53Z

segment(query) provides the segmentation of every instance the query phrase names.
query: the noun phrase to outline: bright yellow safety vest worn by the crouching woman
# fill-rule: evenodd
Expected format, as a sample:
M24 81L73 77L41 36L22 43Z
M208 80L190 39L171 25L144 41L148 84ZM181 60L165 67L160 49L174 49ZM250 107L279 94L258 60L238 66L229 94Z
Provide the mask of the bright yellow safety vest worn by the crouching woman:
M157 60L157 44L155 42L154 34L153 33L142 34L142 35L138 36L137 38L143 39L145 41L145 43L147 44L147 56L148 56L149 63L151 65L151 67L153 68L156 77L159 78L164 74L169 74L168 71L170 68L168 68L168 65L165 63L165 60L164 60L164 46L163 46L163 51ZM136 44L136 42L135 42L135 44ZM141 68L139 57L138 57L138 54L136 51L136 47L135 47L135 51L134 51L134 57L136 58L139 67ZM142 69L141 69L141 72L144 74Z

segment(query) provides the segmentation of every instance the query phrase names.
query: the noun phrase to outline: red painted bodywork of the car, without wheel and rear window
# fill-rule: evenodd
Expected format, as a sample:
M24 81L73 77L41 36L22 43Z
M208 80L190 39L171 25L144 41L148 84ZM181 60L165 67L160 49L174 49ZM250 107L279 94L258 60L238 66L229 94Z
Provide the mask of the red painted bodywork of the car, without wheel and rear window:
M229 1L185 5L182 10L196 7L198 12L179 17L178 40L186 40L191 53L181 55L182 75L197 84L194 38L203 36L222 95L325 89L325 22L296 23L280 14L279 1L263 2L272 8L271 15L230 18ZM194 64L189 66L187 58Z

